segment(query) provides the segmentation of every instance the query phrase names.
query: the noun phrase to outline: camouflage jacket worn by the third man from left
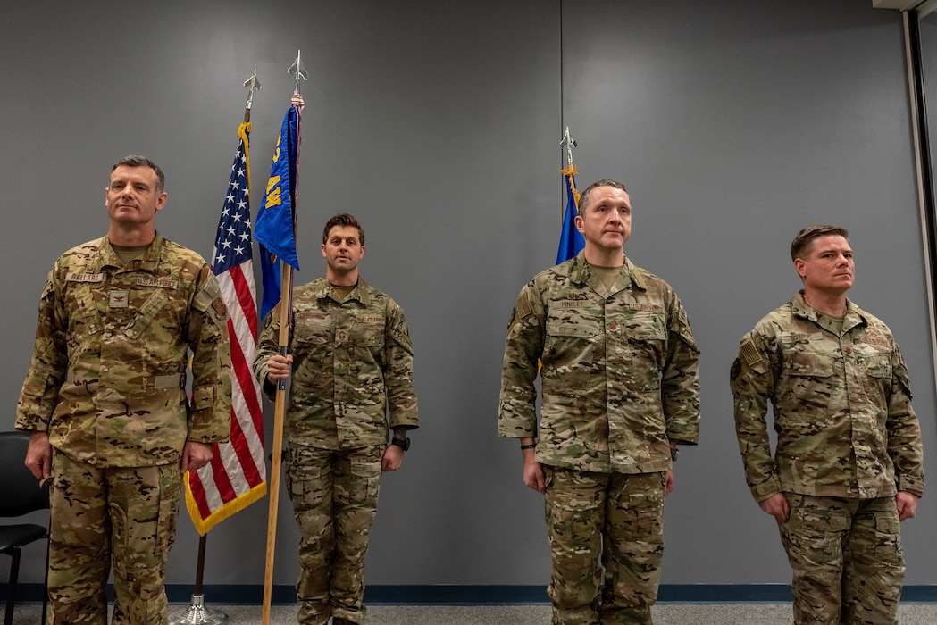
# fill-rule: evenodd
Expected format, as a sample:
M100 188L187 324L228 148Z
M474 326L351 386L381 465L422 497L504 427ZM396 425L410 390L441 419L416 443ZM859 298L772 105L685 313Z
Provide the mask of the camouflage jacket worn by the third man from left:
M534 277L514 305L498 435L536 437L537 461L595 472L670 469L699 439L699 350L677 293L626 260L611 292L584 253Z

